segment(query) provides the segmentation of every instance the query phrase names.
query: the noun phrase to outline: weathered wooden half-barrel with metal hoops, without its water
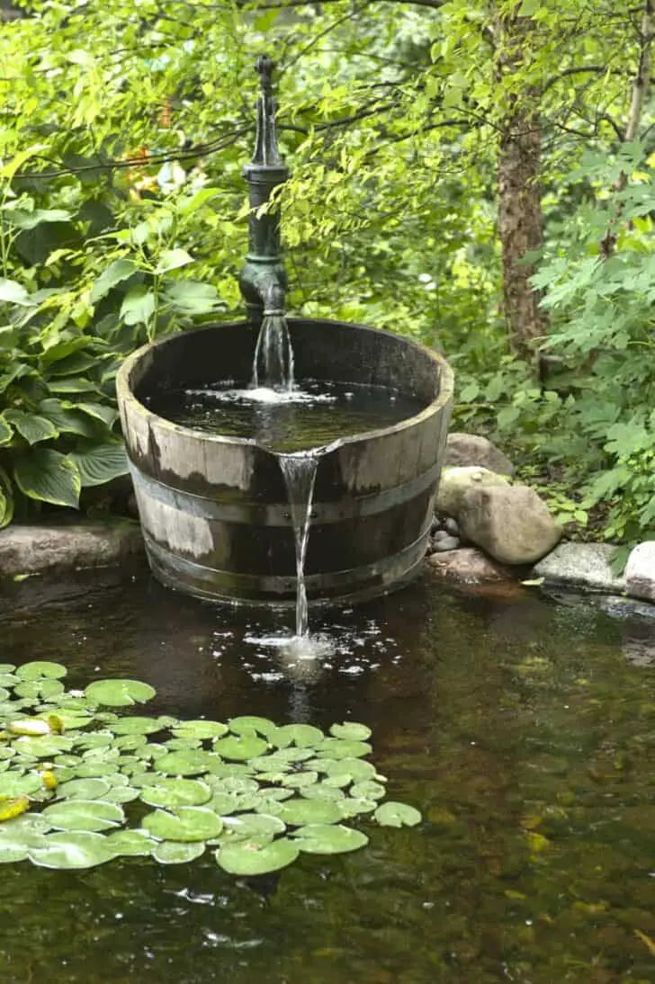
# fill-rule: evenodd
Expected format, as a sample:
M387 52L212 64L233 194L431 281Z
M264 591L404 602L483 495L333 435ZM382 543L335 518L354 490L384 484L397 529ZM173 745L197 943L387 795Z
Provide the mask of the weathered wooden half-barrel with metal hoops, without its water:
M381 594L421 568L452 407L439 355L388 332L290 319L296 379L384 386L418 415L338 441L318 462L305 560L310 601ZM123 364L118 404L154 574L201 597L295 601L295 544L280 462L253 440L151 412L150 395L247 380L255 338L228 324L165 338Z

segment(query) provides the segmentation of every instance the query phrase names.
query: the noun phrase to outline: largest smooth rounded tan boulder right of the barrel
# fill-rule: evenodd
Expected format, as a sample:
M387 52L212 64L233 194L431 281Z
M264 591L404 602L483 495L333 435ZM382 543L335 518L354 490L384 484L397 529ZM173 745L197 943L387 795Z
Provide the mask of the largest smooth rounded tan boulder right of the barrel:
M561 536L548 506L527 485L470 488L459 524L468 540L503 564L532 564Z

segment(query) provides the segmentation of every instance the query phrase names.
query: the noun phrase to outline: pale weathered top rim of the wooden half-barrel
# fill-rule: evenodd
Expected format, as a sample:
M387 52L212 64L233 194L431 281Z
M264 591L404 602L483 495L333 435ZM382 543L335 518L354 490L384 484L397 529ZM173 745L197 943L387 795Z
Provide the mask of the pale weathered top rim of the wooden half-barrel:
M381 328L373 328L370 325L359 325L350 321L333 321L327 318L288 318L288 324L293 327L295 324L302 325L321 325L326 328L331 325L339 325L340 327L346 327L353 329L355 331L370 332L375 335L381 335L385 338L393 338L395 341L401 341L410 348L415 348L418 351L426 355L431 362L434 363L435 368L438 367L439 371L439 393L438 396L431 400L420 413L414 414L411 417L405 417L403 420L399 420L398 423L391 424L389 427L377 427L369 431L360 431L357 434L351 436L339 438L338 440L327 444L317 446L316 448L310 449L310 452L299 452L298 454L309 454L315 452L322 452L323 455L329 454L334 451L338 451L344 447L351 447L359 443L368 443L371 440L375 440L381 437L387 437L391 434L401 433L402 431L409 429L410 427L416 427L423 423L425 420L429 419L435 413L438 413L444 407L447 406L448 402L452 400L455 389L454 372L447 360L439 355L438 352L433 351L428 348L427 345L422 344L419 341L414 341L411 338L404 338L402 335L395 335L393 332L387 332ZM245 437L233 437L226 434L208 434L199 432L193 427L184 427L182 424L173 423L171 420L167 420L165 417L160 416L158 413L154 413L152 410L137 400L131 387L130 387L130 375L133 372L137 364L145 358L150 352L155 349L161 348L166 344L180 338L181 335L188 338L190 336L201 335L205 332L216 332L227 328L236 328L242 326L244 329L250 330L251 326L247 321L231 321L224 322L218 325L208 325L202 328L194 329L190 332L183 332L178 335L168 336L167 338L160 338L157 341L151 341L148 344L141 345L136 351L128 355L123 364L121 365L118 373L116 374L116 396L118 399L119 406L129 406L131 412L135 413L137 416L141 417L144 421L150 423L156 423L157 421L162 421L165 425L167 431L172 430L173 433L178 433L181 437L202 439L210 444L224 444L232 445L237 448L256 448L259 452L263 452L267 455L272 455L275 458L280 458L280 452L277 452L271 448L266 447L266 445L260 444L254 438ZM126 435L127 437L127 435Z

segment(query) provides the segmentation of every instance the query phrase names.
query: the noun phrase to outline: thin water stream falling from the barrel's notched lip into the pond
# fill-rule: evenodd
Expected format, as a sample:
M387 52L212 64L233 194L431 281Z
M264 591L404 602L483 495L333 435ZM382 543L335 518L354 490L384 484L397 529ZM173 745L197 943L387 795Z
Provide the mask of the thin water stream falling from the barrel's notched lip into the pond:
M309 630L307 590L304 583L304 561L311 523L311 501L314 494L316 468L321 451L300 452L296 455L278 455L280 467L287 485L287 495L294 524L295 539L295 635L302 638Z

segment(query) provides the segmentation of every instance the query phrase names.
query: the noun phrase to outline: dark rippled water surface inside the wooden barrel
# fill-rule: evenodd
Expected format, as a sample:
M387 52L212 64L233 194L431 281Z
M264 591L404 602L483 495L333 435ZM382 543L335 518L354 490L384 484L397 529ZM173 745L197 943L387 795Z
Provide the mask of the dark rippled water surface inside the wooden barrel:
M273 451L320 448L352 434L389 427L420 413L425 402L384 387L303 381L295 394L277 402L253 400L253 391L233 382L206 390L173 390L153 395L147 405L174 423L210 434L254 438ZM272 390L255 396L275 397Z

